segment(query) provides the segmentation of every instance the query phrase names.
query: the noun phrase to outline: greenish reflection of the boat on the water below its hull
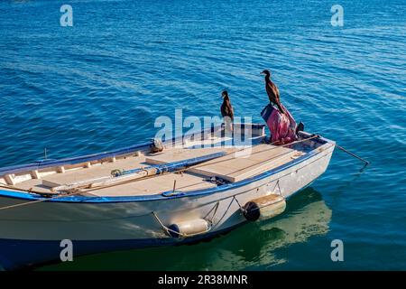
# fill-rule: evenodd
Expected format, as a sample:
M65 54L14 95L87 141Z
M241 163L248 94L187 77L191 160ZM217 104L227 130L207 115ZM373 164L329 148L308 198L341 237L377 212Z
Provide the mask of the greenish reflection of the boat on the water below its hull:
M248 223L207 242L135 249L43 266L42 270L244 270L289 262L283 249L328 233L332 212L321 194L307 188L292 196L280 217ZM281 253L281 254L278 254Z

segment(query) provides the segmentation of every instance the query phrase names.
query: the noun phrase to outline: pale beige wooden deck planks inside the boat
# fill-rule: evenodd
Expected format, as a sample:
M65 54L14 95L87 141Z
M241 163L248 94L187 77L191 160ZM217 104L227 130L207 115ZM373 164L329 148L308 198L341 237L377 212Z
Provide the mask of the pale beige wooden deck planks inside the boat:
M225 156L194 165L184 173L171 172L137 180L131 180L130 175L130 179L123 182L97 185L96 187L80 187L84 194L97 196L151 195L172 191L176 181L176 191L187 192L217 186L216 183L209 182L210 177L216 176L226 182L239 182L305 154L302 151L271 144L256 144L250 148L235 146L195 148L196 146L193 145L189 143L187 146L166 147L159 154L130 154L67 170L56 168L53 172L42 173L40 177L29 177L27 180L17 182L14 187L21 190L51 193L52 188L59 186L89 184L92 180L109 178L112 170L116 169L132 170L152 164L174 163L218 152L225 153ZM27 173L32 174L32 172Z

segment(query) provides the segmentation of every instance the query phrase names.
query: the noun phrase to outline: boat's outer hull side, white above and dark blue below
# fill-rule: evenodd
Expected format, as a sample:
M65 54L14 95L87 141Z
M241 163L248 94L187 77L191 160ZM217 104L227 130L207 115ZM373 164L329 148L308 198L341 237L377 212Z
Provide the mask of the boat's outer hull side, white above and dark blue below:
M63 239L72 241L74 256L81 256L213 238L246 222L240 206L247 201L270 193L289 199L308 186L326 171L333 150L334 144L323 144L271 172L180 197L61 199L0 210L0 264L15 269L58 261ZM2 195L0 207L26 201ZM210 219L211 229L189 238L171 238L160 224L202 218Z

